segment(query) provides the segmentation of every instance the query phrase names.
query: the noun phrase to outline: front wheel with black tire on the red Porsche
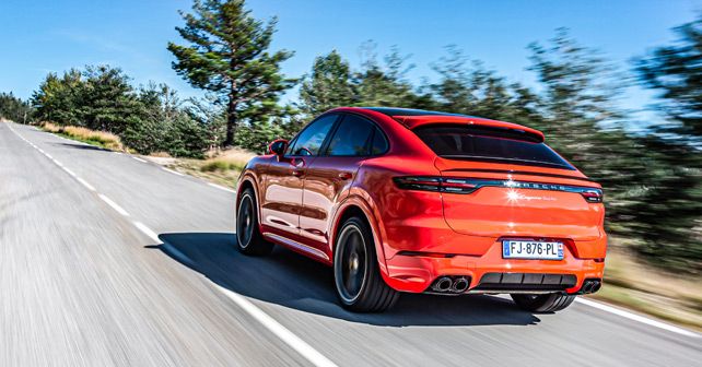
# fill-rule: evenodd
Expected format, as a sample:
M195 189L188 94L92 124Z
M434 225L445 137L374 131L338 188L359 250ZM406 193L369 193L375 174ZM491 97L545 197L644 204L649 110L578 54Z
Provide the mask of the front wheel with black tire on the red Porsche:
M236 247L242 253L254 256L273 250L273 244L265 240L258 228L258 205L250 188L244 190L236 209Z

